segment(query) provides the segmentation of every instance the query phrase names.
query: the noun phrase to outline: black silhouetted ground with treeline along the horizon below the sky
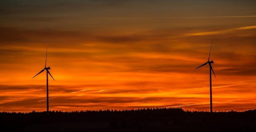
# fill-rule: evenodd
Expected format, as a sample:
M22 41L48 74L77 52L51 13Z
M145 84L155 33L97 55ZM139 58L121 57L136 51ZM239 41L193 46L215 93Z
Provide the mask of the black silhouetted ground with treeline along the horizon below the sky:
M125 111L0 112L1 132L256 132L256 109L236 112L147 108Z

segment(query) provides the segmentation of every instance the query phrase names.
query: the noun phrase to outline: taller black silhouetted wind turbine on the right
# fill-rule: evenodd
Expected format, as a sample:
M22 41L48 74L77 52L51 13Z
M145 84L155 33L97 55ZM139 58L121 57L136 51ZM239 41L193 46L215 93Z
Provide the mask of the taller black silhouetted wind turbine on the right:
M213 40L211 40L211 45L213 44ZM211 66L212 63L214 63L213 61L209 61L210 59L210 54L211 54L211 49L210 49L210 53L209 53L209 58L208 58L208 61L205 63L205 64L202 64L201 66L204 66L206 64L209 64L210 66L210 110L211 110L211 115L212 115L212 112L213 112L213 102L212 102L212 93L211 93L211 71L213 71L213 68ZM201 66L198 66L197 68L201 67ZM197 69L195 68L195 69ZM213 71L213 75L215 76L216 78L216 75L214 74L214 71Z

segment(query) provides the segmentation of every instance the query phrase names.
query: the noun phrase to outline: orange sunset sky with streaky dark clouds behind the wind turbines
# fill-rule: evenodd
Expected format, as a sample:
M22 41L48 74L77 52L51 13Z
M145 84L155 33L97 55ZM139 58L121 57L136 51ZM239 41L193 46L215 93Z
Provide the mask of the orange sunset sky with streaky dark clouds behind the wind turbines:
M255 0L1 0L0 111L256 108Z

